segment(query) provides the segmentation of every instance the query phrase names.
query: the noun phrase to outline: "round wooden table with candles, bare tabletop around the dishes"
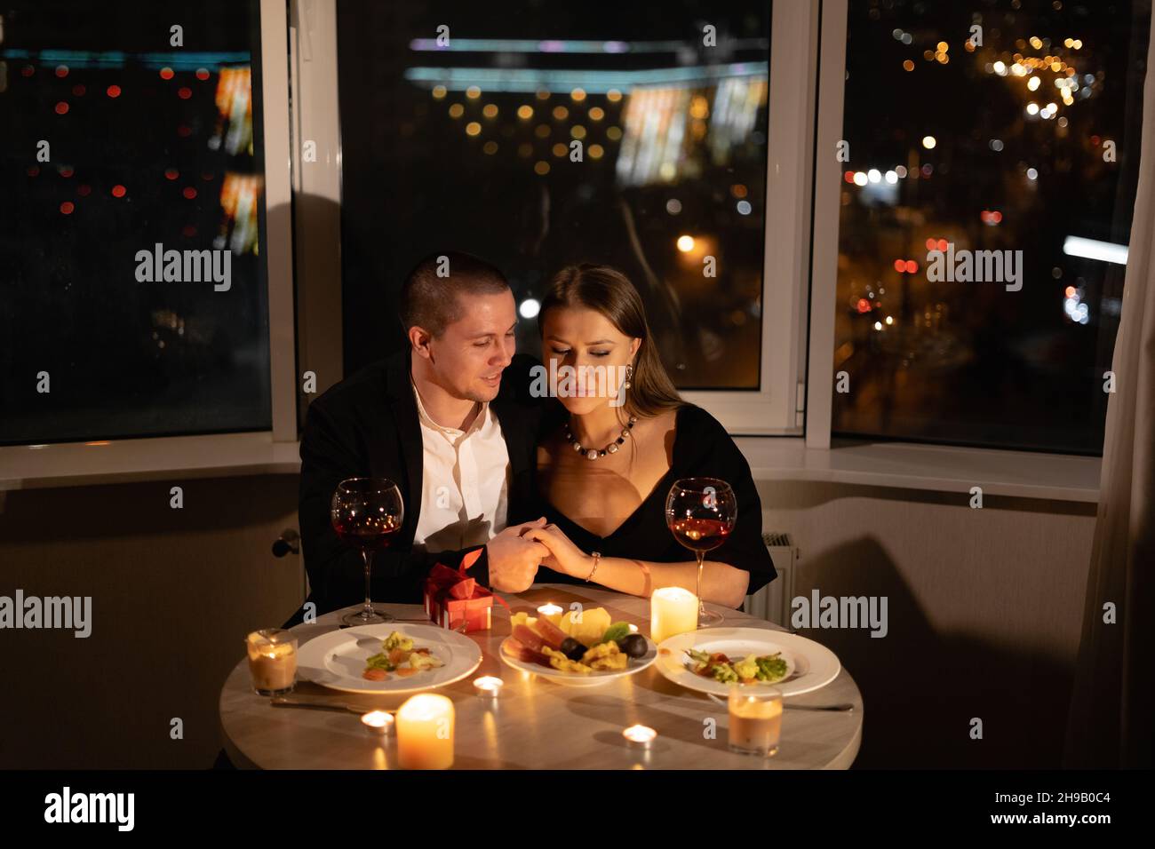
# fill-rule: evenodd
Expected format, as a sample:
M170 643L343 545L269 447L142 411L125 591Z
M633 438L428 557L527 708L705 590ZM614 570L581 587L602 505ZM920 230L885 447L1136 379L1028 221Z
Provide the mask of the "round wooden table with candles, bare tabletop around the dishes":
M595 587L538 584L519 595L502 595L514 612L553 602L568 609L605 608L614 621L634 623L649 633L649 599ZM418 604L379 604L398 620L424 620ZM765 619L709 605L725 625L781 631ZM334 631L334 611L293 632L304 645ZM536 613L534 613L536 616ZM455 769L845 769L862 742L863 703L847 672L804 695L788 698L782 739L774 758L735 754L726 746L729 715L724 703L705 693L668 682L655 666L599 687L569 687L520 672L501 661L498 647L509 635L509 615L493 609L490 631L468 634L482 648L482 663L464 679L437 692L450 698L456 712ZM505 682L494 701L480 699L472 680L483 675ZM408 697L342 693L299 683L297 694L320 694L334 701L364 703L366 710L395 708ZM791 709L791 705L850 702L852 712ZM709 720L714 722L709 722ZM627 725L658 732L648 752L629 749L621 738ZM715 731L710 733L710 727ZM221 691L224 747L241 768L382 769L396 766L396 738L372 737L360 717L348 710L274 707L252 690L246 658Z

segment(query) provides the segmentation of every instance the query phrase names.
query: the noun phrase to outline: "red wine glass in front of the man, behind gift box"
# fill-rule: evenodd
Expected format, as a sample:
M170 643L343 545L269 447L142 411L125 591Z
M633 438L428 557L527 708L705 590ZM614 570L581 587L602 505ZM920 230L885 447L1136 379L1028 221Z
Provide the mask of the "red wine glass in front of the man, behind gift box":
M342 542L359 548L365 560L365 606L341 617L345 625L375 625L393 620L383 610L374 610L370 601L370 575L373 554L393 542L404 515L401 490L388 478L351 477L337 484L329 509L333 529Z

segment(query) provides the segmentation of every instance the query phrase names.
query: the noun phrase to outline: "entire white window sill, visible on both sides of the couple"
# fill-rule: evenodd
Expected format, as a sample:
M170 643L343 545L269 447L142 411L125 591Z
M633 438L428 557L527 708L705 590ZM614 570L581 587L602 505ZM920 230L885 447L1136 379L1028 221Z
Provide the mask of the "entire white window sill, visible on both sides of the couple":
M815 481L969 496L1098 500L1098 457L875 442L807 448L804 439L737 437L755 481ZM300 444L271 433L0 447L0 491L243 475L296 475Z

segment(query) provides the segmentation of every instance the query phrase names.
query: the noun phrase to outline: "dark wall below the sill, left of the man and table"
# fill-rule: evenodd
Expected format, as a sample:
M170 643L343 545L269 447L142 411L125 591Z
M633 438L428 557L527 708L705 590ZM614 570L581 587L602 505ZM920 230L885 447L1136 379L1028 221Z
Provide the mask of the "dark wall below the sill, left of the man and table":
M0 595L92 596L92 633L0 631L0 768L208 768L245 634L304 601L297 475L0 492ZM184 508L169 489L184 487ZM170 721L184 721L184 739Z

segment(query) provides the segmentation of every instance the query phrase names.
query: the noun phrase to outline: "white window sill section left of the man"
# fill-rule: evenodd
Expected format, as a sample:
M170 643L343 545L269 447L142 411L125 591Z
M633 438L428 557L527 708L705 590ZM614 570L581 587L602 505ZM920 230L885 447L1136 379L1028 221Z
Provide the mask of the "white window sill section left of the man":
M300 444L270 432L0 447L0 491L240 475L296 475Z

